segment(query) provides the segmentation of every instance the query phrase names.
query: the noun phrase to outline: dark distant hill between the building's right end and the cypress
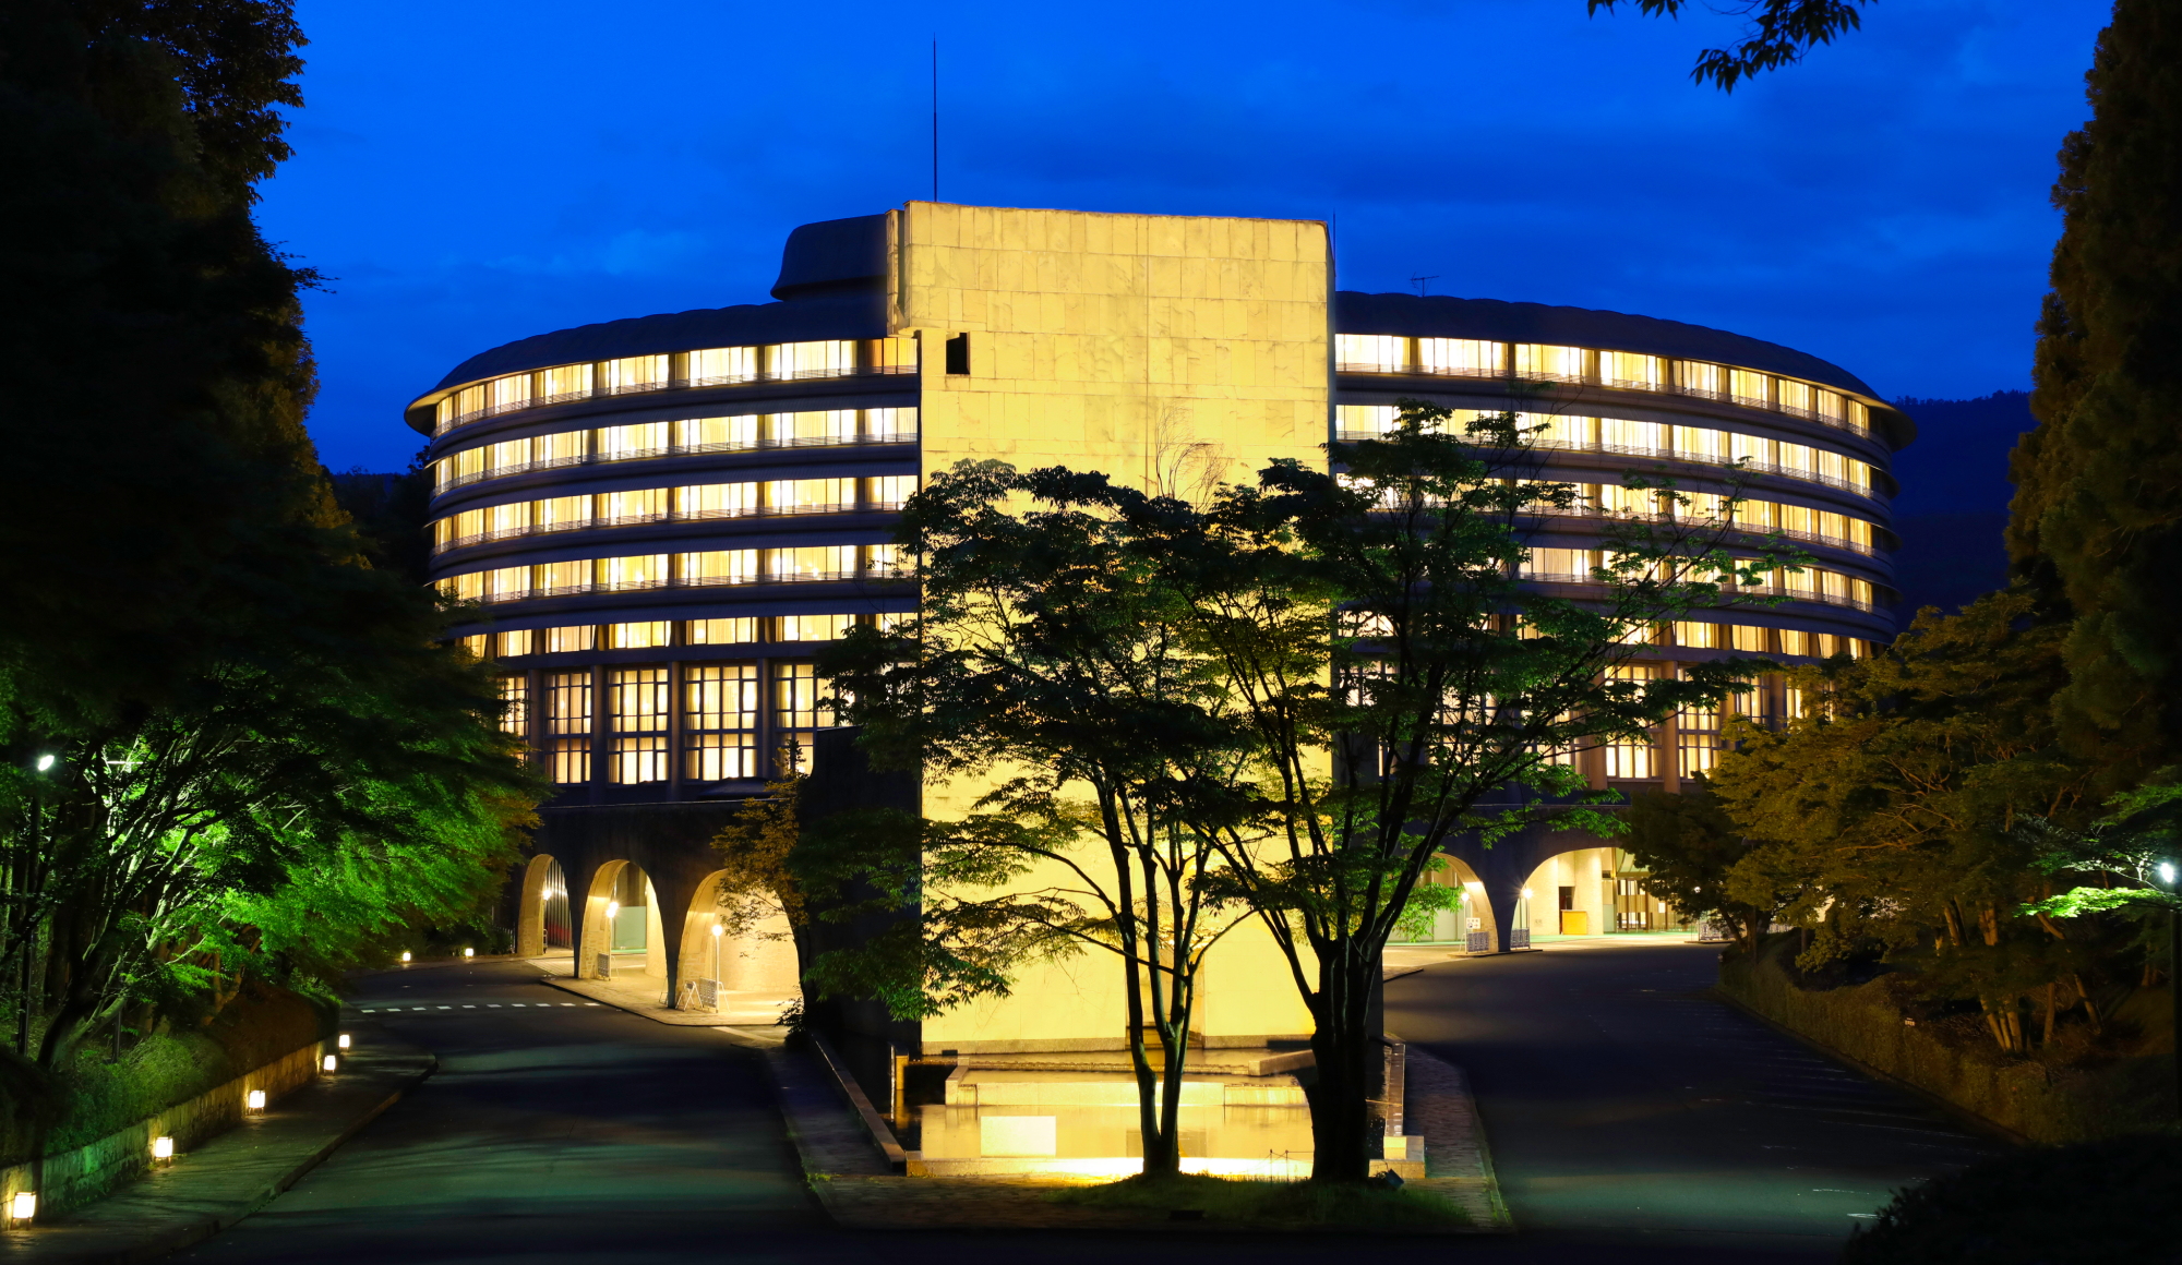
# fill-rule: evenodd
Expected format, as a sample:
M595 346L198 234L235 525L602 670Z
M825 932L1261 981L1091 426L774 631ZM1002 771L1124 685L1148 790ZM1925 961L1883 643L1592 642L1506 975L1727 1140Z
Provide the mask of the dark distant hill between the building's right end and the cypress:
M1896 399L1918 425L1918 438L1894 456L1903 493L1894 499L1894 556L1901 626L1918 606L1955 611L2007 582L2007 451L2038 425L2027 390L1994 390L1979 399Z

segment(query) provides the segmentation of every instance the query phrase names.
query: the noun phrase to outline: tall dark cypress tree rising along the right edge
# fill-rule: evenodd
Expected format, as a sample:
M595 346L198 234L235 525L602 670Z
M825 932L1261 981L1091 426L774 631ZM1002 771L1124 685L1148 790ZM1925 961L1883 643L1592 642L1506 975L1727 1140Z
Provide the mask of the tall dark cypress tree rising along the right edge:
M2117 0L2086 96L2007 550L2071 622L2064 731L2119 772L2182 752L2182 2Z

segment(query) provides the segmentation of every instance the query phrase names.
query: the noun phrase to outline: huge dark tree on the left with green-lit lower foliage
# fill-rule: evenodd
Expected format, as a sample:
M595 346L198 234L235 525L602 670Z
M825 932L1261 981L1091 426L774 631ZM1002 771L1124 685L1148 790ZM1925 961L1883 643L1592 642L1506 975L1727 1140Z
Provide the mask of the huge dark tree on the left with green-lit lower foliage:
M441 615L364 565L303 412L279 0L0 7L4 1073L131 1005L325 986L489 899L530 783Z

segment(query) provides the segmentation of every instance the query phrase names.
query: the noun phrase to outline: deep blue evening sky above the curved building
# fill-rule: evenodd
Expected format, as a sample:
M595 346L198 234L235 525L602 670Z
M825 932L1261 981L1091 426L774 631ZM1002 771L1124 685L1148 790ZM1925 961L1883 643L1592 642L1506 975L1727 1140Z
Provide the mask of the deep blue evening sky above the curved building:
M936 13L936 15L932 15ZM1582 0L567 4L303 0L266 236L334 469L487 347L766 301L794 225L930 196L1338 220L1340 284L1612 308L1824 356L1883 395L2029 382L2099 0L1883 0L1724 96L1737 22ZM936 26L934 26L936 24Z

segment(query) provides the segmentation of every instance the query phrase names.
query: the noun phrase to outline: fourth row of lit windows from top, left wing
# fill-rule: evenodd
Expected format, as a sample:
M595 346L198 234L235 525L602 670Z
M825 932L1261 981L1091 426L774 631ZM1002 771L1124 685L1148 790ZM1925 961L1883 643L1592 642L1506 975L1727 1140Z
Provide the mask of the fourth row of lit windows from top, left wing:
M493 567L445 576L439 580L439 591L458 602L515 602L681 585L897 580L906 576L908 569L895 545L803 545L794 550L703 550Z

